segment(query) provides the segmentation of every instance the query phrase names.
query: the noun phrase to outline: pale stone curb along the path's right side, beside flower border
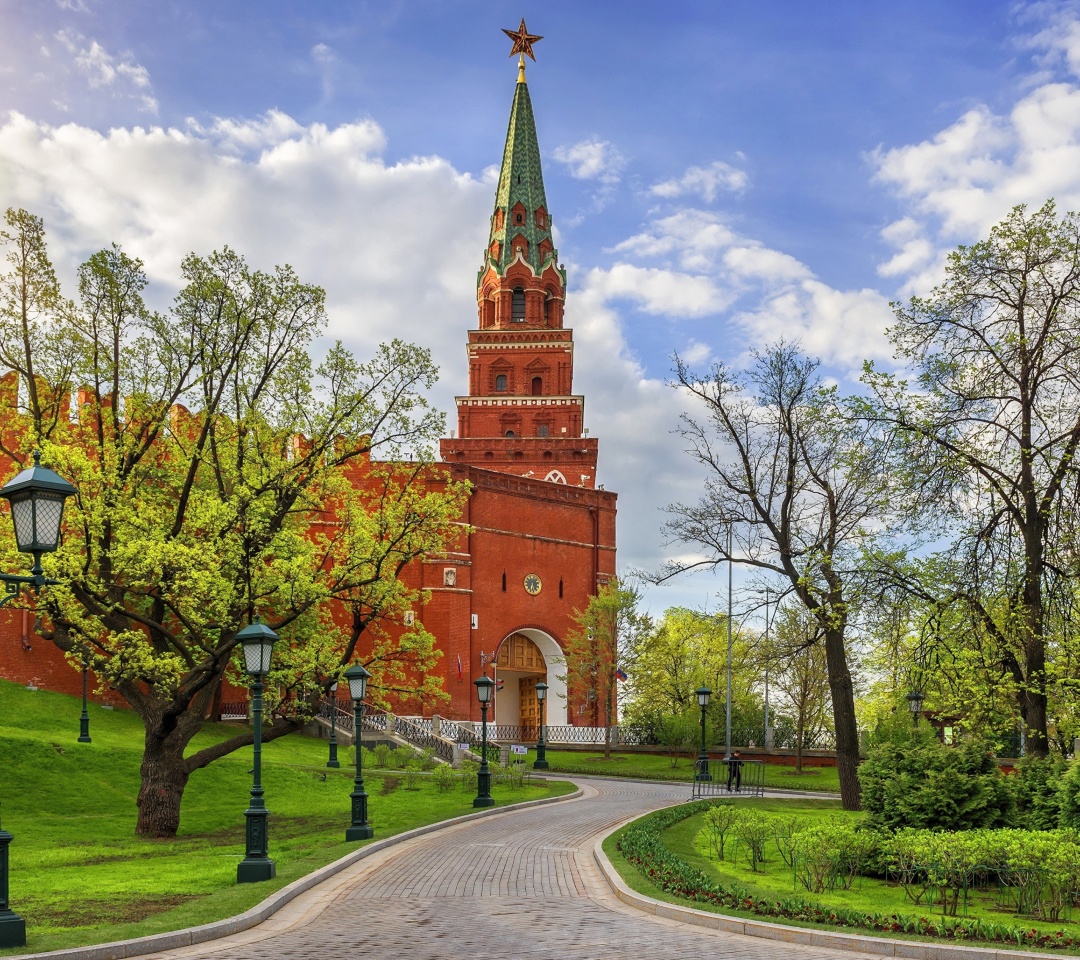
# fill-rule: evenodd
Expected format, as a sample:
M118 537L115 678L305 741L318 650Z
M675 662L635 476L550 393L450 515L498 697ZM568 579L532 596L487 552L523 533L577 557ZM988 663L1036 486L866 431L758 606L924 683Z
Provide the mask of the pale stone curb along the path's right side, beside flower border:
M637 820L638 817L633 817ZM626 821L630 823L631 821ZM708 930L724 933L741 933L745 936L757 936L765 939L783 941L789 944L800 944L808 947L827 947L834 950L851 950L861 954L880 954L882 957L902 957L906 960L1063 960L1075 955L1069 954L1035 954L1025 950L1004 950L996 947L968 947L960 944L935 944L929 941L889 939L882 936L861 936L855 933L831 933L827 930L813 930L806 927L788 927L784 923L770 923L766 920L744 920L740 917L729 917L725 914L713 914L694 907L684 907L661 900L653 900L644 893L632 890L622 879L615 865L604 852L604 841L616 830L616 827L600 837L593 847L593 860L599 867L600 875L607 880L611 892L627 906L664 917L679 923L690 923Z

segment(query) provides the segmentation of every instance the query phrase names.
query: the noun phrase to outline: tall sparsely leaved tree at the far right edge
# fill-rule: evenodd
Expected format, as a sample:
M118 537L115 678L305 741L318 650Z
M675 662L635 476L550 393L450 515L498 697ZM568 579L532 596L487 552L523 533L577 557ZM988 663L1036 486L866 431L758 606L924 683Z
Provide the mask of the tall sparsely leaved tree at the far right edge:
M1007 674L1028 752L1045 756L1050 598L1075 571L1080 218L1014 207L949 255L929 297L894 307L915 383L867 369L913 524L951 546L920 589L957 608Z

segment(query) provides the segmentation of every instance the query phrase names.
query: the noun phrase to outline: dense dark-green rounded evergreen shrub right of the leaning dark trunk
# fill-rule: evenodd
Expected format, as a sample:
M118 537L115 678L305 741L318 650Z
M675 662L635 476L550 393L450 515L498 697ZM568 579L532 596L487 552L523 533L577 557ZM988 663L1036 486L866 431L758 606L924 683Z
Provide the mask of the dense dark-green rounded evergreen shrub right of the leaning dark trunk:
M1005 826L1013 797L997 761L976 742L948 747L926 726L901 726L859 768L863 809L886 829Z

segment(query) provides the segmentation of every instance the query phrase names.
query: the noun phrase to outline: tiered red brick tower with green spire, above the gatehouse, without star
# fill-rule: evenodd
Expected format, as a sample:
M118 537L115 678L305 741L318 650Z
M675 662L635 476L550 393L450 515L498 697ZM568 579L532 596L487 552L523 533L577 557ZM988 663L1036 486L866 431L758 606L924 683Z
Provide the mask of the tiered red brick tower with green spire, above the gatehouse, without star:
M563 326L566 272L544 199L524 56L510 111L484 266L477 329L469 330L469 395L443 459L518 476L593 487L595 440L573 393L573 337Z

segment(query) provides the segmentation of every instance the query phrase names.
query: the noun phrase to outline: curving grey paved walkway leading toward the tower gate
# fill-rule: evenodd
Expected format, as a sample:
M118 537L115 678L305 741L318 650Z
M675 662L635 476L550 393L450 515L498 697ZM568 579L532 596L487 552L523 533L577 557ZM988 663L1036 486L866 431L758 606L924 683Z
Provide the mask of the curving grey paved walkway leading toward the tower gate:
M856 960L703 930L616 898L593 846L686 785L579 781L576 800L485 817L360 861L270 920L148 955L213 960Z

